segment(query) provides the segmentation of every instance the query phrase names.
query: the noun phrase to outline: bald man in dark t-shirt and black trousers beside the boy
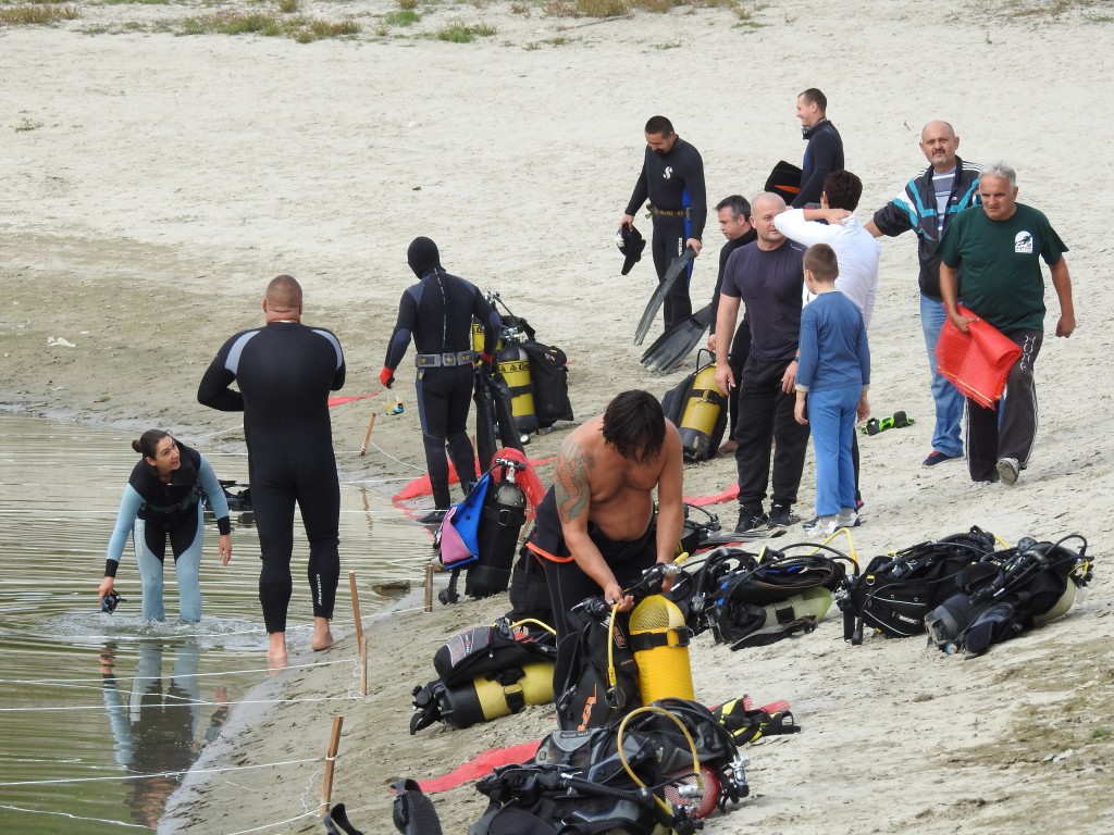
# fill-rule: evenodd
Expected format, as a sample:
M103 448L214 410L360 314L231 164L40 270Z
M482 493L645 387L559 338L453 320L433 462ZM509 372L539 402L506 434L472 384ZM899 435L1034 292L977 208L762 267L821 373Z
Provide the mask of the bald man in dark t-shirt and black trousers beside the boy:
M792 523L791 510L804 470L809 445L808 424L793 418L797 405L798 340L801 334L801 293L804 285L804 247L782 235L774 218L785 202L764 191L751 202L751 225L758 238L727 258L716 338L731 344L740 302L751 323L751 353L741 379L735 377L726 352L715 357L715 383L724 394L739 386L739 423L734 441L739 468L739 523L743 533L768 524ZM773 478L770 471L770 442ZM770 512L763 510L771 490Z

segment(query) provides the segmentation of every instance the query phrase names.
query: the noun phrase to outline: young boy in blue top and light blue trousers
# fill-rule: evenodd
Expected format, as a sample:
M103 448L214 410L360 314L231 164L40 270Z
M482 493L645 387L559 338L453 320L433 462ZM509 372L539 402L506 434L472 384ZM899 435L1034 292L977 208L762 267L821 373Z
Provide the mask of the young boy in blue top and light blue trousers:
M858 522L851 442L854 421L870 414L870 348L858 306L836 289L839 264L827 244L804 254L804 283L815 298L801 312L797 409L812 429L817 517L807 533L828 536ZM808 405L808 418L805 418Z

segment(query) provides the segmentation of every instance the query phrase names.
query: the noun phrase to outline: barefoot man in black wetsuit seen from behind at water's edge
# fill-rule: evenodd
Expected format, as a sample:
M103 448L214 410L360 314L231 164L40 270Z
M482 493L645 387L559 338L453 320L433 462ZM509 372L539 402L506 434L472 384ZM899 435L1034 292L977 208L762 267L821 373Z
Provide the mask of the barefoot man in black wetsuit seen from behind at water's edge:
M267 658L286 661L286 610L293 590L294 503L310 540L313 648L333 646L340 578L341 493L333 455L329 392L344 385L344 354L330 331L306 327L302 287L289 275L267 285L266 326L228 340L202 377L197 400L244 413L248 481L260 534L260 603L270 636ZM229 389L236 382L240 391Z

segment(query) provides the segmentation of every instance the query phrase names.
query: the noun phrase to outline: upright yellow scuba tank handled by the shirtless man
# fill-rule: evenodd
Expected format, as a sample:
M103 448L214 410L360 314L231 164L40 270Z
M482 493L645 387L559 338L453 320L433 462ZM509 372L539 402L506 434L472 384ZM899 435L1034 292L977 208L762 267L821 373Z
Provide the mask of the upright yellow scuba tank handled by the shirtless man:
M638 665L643 705L695 698L688 637L684 613L664 595L651 595L631 612L631 649Z

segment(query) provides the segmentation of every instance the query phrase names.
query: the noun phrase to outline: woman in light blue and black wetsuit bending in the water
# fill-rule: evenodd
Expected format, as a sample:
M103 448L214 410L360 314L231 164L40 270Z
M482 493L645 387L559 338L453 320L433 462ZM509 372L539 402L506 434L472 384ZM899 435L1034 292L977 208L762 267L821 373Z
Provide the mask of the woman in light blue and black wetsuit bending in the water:
M202 618L198 572L205 531L197 485L208 493L213 504L221 531L221 563L227 566L232 559L232 524L224 490L208 461L167 432L148 430L131 442L131 449L143 459L124 488L98 597L104 600L116 584L116 569L130 531L143 584L143 616L146 620L165 620L163 563L169 539L178 578L178 618L196 622Z

